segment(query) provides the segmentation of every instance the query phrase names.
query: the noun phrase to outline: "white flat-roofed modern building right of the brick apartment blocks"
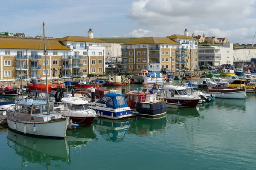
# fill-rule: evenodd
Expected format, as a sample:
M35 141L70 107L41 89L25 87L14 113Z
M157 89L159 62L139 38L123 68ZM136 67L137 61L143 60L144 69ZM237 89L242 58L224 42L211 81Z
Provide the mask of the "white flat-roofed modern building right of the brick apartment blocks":
M223 46L199 46L199 65L233 65L233 44L224 43Z

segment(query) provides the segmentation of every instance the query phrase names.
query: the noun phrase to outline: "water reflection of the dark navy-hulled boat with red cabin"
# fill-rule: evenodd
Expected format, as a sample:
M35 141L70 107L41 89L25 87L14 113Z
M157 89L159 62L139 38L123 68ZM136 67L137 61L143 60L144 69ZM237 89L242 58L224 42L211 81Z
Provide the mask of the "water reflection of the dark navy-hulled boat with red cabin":
M160 118L134 118L129 127L128 133L133 133L138 136L150 135L154 136L158 133L163 133L166 127L166 115Z

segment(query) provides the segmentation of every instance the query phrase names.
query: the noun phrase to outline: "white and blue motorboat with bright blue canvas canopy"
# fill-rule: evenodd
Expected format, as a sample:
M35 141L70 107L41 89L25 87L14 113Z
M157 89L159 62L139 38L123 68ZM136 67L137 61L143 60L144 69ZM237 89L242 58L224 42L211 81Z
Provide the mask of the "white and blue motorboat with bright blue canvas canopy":
M88 103L97 115L107 119L124 119L131 115L123 94L105 94L97 102Z

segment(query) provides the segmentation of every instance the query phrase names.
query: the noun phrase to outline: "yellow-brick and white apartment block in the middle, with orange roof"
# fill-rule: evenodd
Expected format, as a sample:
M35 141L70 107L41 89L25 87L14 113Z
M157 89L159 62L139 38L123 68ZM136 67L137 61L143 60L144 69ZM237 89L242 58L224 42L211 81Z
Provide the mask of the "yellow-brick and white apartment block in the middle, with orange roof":
M192 57L189 59L192 44ZM195 40L192 43L192 37L186 35L174 34L165 38L143 37L125 42L121 46L124 71L183 71L186 68L190 70L191 67L198 67L198 44Z

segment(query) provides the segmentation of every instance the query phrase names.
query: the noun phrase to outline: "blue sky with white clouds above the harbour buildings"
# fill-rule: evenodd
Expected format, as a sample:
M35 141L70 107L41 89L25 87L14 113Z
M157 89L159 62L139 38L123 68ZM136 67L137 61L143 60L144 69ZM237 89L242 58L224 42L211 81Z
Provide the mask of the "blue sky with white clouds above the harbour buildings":
M26 36L166 37L205 34L256 44L256 0L0 0L0 32Z

